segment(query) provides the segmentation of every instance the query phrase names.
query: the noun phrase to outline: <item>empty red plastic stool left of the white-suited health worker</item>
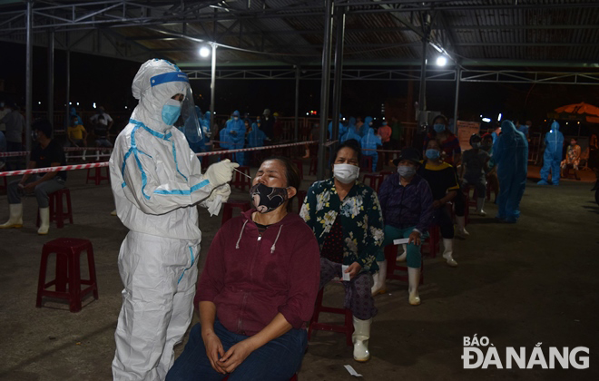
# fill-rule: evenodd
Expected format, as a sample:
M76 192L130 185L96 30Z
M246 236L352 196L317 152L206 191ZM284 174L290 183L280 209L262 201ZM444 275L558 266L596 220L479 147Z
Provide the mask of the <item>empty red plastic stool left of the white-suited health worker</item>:
M87 251L89 279L81 278L80 256L85 250ZM54 280L46 283L45 272L48 267L48 257L52 253L56 254L56 274ZM66 290L67 285L68 291ZM81 289L82 285L89 287ZM46 289L51 286L54 286L54 291ZM69 301L71 312L79 312L83 298L90 293L93 293L94 299L98 298L92 242L87 239L61 238L44 243L35 307L42 307L42 298L44 297L61 298Z

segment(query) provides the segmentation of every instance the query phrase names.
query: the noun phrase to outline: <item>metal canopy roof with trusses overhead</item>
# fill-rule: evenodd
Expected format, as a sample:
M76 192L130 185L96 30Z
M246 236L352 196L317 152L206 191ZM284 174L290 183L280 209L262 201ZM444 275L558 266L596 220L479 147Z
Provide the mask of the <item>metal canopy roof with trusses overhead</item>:
M54 31L56 48L142 62L163 57L182 67L210 65L202 44L220 46L217 64L320 64L325 2L35 1L34 44ZM599 66L599 1L338 0L346 65L419 65L445 52L463 67ZM0 39L25 43L26 5L0 5ZM67 36L68 33L68 36Z

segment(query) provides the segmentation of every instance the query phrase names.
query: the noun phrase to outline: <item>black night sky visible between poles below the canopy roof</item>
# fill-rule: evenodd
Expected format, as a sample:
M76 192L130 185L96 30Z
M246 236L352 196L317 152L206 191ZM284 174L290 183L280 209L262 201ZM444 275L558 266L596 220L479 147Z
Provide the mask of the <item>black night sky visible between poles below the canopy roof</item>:
M4 97L18 103L25 102L25 45L0 43L0 78L5 80ZM10 57L5 59L4 57ZM131 95L131 82L139 68L138 63L89 54L71 54L71 101L80 103L83 110L91 110L92 103L104 104L108 112L125 112L136 103ZM494 68L498 69L498 68ZM541 69L540 69L541 70ZM548 69L542 69L548 70ZM46 51L34 48L34 109L45 110L46 105ZM54 71L55 109L64 105L65 54L55 51ZM292 116L294 112L295 82L293 80L218 80L216 111L234 110L254 115L269 107L272 112ZM191 81L193 92L202 110L210 105L210 81ZM414 84L417 100L418 83ZM332 86L331 86L332 92ZM380 115L380 105L405 97L407 82L346 81L343 83L344 115ZM300 82L300 116L309 110L319 110L319 81ZM427 83L427 109L453 113L455 83ZM37 103L42 102L39 106ZM461 83L460 119L470 120L479 114L496 117L503 112L508 118L531 119L534 125L544 122L546 112L556 107L586 102L599 105L599 92L591 85Z

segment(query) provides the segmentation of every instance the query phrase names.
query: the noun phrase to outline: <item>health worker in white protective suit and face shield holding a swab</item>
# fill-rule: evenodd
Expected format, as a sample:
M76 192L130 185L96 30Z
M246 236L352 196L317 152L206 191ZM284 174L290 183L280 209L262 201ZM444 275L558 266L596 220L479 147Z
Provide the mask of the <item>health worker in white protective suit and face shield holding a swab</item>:
M132 90L139 104L110 158L116 212L130 230L118 260L124 289L113 378L163 380L193 312L201 240L196 204L217 214L238 164L221 161L202 175L184 134L172 128L182 108L183 119L194 112L187 75L177 66L147 61Z

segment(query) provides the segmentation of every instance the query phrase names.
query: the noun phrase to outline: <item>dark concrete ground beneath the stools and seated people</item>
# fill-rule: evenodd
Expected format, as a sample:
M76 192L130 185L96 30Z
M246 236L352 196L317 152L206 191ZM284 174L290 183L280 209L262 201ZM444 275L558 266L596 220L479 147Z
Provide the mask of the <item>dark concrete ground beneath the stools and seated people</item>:
M305 163L304 171L308 170ZM538 171L538 169L536 170ZM535 171L531 168L531 175ZM313 177L306 176L307 189ZM592 178L585 176L584 180ZM352 358L345 337L317 332L300 371L301 380L349 380L346 364L364 380L596 380L599 329L599 207L586 181L562 181L539 187L529 181L517 224L497 223L496 206L489 217L473 217L470 237L457 240L456 269L442 259L426 259L422 304L408 305L407 287L388 284L376 298L368 363ZM74 225L48 236L35 233L35 200L24 202L25 228L0 230L0 379L110 380L114 329L121 308L122 283L117 255L127 230L111 217L113 199L107 184L85 185L84 171L69 172ZM235 191L233 199L245 198ZM0 219L8 214L0 196ZM200 268L220 217L201 210ZM62 302L35 308L40 254L44 242L59 237L93 242L100 298L88 298L71 313ZM51 267L52 268L52 267ZM342 288L331 284L329 304L340 304ZM339 316L323 316L337 319ZM197 318L194 318L194 322ZM548 347L590 348L586 370L464 369L464 337L488 337L506 366L506 347L525 347L526 359L537 343ZM486 351L486 348L483 348ZM177 354L182 346L177 347Z

